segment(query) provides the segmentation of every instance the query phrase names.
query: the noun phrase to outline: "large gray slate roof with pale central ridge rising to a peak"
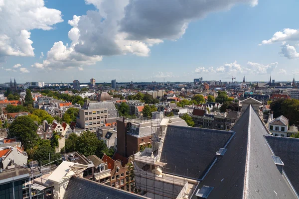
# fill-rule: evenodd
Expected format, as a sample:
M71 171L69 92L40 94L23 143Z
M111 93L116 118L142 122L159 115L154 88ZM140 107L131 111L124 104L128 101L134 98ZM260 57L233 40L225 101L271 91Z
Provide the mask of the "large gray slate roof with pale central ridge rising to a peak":
M208 199L243 199L243 194L247 199L296 199L274 163L274 154L263 136L267 131L251 106L232 130L236 134L226 153L199 183L198 189L213 187ZM195 194L192 198L196 199Z

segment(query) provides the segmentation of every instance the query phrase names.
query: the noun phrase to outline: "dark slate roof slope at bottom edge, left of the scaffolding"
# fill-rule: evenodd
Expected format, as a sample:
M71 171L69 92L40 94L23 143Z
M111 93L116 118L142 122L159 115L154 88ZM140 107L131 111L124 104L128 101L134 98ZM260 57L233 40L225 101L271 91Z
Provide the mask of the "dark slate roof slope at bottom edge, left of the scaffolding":
M81 177L72 177L63 199L148 199Z

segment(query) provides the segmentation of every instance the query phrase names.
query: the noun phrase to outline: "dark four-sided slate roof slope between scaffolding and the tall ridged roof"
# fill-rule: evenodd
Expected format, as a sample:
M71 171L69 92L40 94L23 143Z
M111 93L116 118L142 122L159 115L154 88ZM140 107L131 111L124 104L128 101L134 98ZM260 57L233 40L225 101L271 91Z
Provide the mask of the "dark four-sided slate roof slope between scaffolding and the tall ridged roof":
M161 151L164 173L201 179L232 136L231 131L168 125Z

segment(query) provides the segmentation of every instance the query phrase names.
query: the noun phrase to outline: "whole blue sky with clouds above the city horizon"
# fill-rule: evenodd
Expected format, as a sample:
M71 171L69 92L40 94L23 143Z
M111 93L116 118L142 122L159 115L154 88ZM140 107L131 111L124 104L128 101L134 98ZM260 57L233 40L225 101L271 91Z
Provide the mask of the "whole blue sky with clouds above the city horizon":
M0 83L299 80L298 0L0 0Z

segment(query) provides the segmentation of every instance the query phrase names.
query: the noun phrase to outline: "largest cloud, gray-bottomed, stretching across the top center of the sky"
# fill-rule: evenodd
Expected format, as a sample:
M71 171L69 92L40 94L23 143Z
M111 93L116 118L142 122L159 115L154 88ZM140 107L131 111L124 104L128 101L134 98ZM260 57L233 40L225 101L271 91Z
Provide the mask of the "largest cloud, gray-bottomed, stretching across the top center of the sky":
M149 56L153 45L175 40L192 20L215 11L228 10L238 3L255 6L258 0L85 0L97 10L74 15L68 37L70 46L59 43L64 58L47 53L43 67L83 67L101 61L103 56L134 54ZM63 46L62 46L63 45ZM58 50L58 49L56 49ZM56 53L54 53L56 54ZM57 59L58 56L60 59ZM72 59L71 59L72 58ZM78 59L81 60L78 62ZM84 61L83 61L84 60ZM34 66L34 65L33 65Z

